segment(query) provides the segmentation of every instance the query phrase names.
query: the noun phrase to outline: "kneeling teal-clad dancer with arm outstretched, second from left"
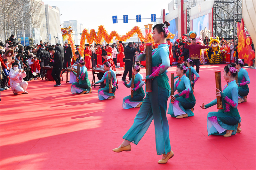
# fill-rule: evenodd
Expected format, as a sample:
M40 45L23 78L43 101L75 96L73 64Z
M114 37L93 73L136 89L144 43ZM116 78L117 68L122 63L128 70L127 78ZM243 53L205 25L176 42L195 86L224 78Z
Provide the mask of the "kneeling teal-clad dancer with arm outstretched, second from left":
M114 99L116 98L115 96L115 92L116 92L116 73L115 71L113 71L111 69L111 62L108 61L106 63L104 63L104 69L106 70L106 72L104 73L103 77L101 78L101 80L97 81L97 82L93 82L92 81L92 84L99 84L99 83L102 83L105 79L106 79L106 87L104 88L101 88L98 90L98 98L99 100L105 100L105 99ZM111 86L111 89L112 89L112 93L109 93L109 83L108 83L108 71L111 71L111 76L112 76L112 86Z

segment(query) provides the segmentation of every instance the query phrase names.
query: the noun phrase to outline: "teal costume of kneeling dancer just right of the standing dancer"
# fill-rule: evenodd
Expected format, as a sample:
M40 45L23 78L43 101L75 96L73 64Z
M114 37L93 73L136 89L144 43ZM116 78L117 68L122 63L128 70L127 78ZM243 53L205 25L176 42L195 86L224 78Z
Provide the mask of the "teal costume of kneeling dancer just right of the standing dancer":
M174 91L178 90L178 94L174 95L176 98L175 100L179 101L179 107L180 109L188 114L189 116L194 116L194 113L190 110L193 108L196 104L196 98L193 94L191 83L189 78L185 76L185 74L175 81L174 83ZM177 117L173 113L173 106L170 101L168 114L170 114L172 117Z

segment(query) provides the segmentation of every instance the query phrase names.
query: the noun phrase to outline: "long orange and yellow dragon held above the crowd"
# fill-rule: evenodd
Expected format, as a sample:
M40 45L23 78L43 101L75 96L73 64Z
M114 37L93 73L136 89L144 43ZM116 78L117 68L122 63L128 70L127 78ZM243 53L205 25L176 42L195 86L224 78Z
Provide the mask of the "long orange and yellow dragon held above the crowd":
M64 36L67 36L67 35L68 35L68 37L69 37L69 35L72 36L72 34L71 33L68 34L68 31L67 31L70 28L71 28L71 26L69 26L67 28L61 28L61 31L65 30L65 33L62 31L64 33L64 34L62 33L63 40L64 40ZM118 40L118 41L126 41L127 39L132 37L135 33L138 34L138 38L140 39L141 42L142 41L144 41L144 42L152 42L152 44L155 45L154 40L152 38L153 34L152 33L148 33L146 35L146 38L145 38L143 33L141 33L139 26L134 26L131 31L129 31L128 33L126 33L125 35L122 35L122 36L119 35L116 31L111 31L111 33L108 34L108 32L106 31L104 26L99 26L97 34L96 34L94 29L91 29L90 32L87 29L83 30L83 33L81 35L81 40L80 40L79 53L80 53L81 56L83 56L85 39L86 39L88 44L92 44L93 41L96 44L100 44L104 40L107 43L113 43L114 36L116 37L116 40ZM175 36L175 34L172 34L172 33L169 32L167 38L173 39L174 36ZM70 44L71 44L71 41L73 41L73 43L74 43L74 40L73 39L71 40L71 38L68 38L67 40L68 40L68 43L70 43ZM73 48L72 48L72 50L73 50Z

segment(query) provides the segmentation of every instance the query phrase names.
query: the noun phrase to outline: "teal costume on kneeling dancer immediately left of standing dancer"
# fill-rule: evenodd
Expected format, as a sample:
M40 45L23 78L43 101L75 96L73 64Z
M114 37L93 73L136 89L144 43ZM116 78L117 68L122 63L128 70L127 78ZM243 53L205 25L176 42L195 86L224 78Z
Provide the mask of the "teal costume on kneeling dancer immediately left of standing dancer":
M131 98L131 95L129 95L123 99L123 108L124 109L132 108L132 106L130 106L129 104L124 105L125 100L129 100L131 102L142 102L143 101L143 98L145 97L145 92L142 88L142 86L144 85L144 81L142 81L142 79L143 79L143 76L140 73L135 74L134 86L133 86L133 98ZM124 85L127 88L130 88L132 86L132 79L129 82L129 84L126 84L126 81L125 81Z

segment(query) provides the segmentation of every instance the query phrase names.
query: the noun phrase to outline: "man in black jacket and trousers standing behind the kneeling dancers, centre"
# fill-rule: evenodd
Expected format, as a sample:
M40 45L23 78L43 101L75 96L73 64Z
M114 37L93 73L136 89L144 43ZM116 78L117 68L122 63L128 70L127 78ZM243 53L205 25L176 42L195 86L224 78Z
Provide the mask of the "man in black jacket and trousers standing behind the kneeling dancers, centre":
M126 80L126 75L129 72L129 80L132 79L132 64L133 64L133 57L134 57L134 47L132 42L129 42L128 45L124 48L124 74L122 77L122 81Z

